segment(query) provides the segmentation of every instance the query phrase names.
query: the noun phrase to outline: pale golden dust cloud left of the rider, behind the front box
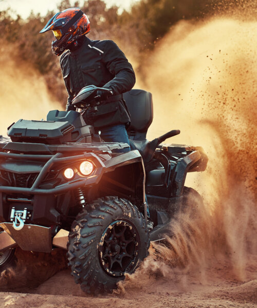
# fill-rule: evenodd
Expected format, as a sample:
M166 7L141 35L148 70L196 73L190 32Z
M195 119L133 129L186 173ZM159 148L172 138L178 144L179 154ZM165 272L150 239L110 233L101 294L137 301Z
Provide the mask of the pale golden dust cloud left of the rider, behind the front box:
M49 110L62 107L52 100L43 77L29 63L15 61L13 47L1 45L5 48L0 59L0 135L6 135L13 122L46 119Z

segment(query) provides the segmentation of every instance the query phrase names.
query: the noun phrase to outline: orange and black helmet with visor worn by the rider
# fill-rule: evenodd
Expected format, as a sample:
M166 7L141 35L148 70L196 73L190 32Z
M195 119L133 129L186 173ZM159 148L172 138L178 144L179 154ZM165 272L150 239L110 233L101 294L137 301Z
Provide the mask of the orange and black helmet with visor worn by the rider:
M79 8L70 8L55 14L40 33L49 30L56 37L52 41L52 52L61 55L69 44L90 31L90 22Z

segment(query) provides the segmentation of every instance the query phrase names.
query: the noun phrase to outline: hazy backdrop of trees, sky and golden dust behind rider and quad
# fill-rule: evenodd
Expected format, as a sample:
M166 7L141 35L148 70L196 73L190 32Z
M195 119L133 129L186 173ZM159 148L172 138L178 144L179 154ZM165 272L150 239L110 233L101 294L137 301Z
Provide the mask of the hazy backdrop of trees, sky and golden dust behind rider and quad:
M39 31L57 11L79 5L65 0L24 19L15 3L0 12L2 133L20 118L41 119L49 109L64 108L53 36ZM148 138L180 129L167 142L203 146L209 157L207 170L187 180L201 192L204 208L197 219L182 217L173 226L166 264L187 260L183 273L194 268L202 275L213 262L224 262L235 279L247 279L247 262L256 272L257 254L256 1L141 0L125 10L113 3L89 0L80 8L90 18L89 38L116 41L133 64L135 87L153 93Z

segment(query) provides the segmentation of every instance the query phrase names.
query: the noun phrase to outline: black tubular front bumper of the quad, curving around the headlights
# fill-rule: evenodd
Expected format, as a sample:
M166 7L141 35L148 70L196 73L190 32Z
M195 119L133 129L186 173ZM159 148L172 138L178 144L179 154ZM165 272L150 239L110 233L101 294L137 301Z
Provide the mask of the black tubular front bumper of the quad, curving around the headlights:
M30 218L26 219L27 223L33 222L43 226L58 224L60 223L62 213L59 213L57 207L59 203L68 202L70 195L68 192L84 186L97 184L104 172L105 166L95 153L84 153L76 157L61 156L61 153L57 153L49 159L49 156L43 155L19 155L0 152L0 161L2 160L3 162L16 158L19 158L21 164L26 164L30 160L47 160L31 187L13 187L0 184L0 222L10 221L12 208L21 210L27 208L30 211ZM42 188L42 181L53 166L86 159L92 160L96 165L93 175L70 180L50 189ZM59 198L63 194L65 198Z

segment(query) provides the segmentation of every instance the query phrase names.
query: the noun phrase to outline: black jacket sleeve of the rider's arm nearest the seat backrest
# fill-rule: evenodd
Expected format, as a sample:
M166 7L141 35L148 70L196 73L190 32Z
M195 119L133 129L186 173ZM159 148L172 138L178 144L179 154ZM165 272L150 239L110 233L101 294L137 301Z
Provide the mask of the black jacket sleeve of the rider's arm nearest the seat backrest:
M113 41L105 41L106 46L103 53L103 62L107 69L115 77L104 85L111 88L114 94L130 91L136 82L135 72L132 65L127 61L124 53Z

